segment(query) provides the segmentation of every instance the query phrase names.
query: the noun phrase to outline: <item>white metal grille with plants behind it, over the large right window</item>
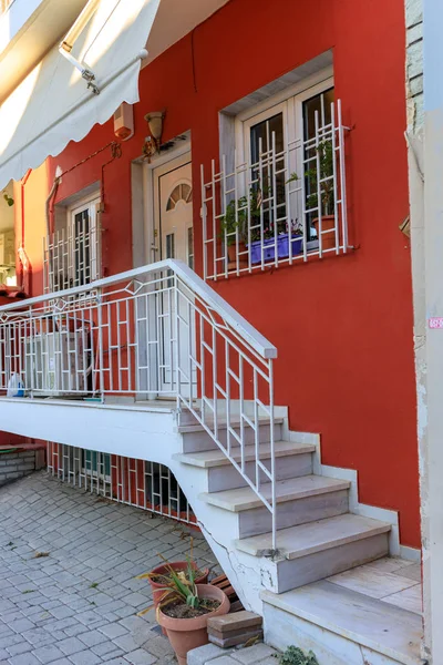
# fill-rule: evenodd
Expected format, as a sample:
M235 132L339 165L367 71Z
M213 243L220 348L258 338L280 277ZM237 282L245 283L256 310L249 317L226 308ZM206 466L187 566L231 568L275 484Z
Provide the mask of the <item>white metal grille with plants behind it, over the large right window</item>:
M223 155L202 165L205 279L217 279L281 264L346 253L348 218L344 133L341 103L331 104L331 121L313 135L269 150L260 139L258 161L238 163ZM227 166L229 161L234 164Z

